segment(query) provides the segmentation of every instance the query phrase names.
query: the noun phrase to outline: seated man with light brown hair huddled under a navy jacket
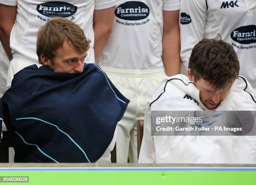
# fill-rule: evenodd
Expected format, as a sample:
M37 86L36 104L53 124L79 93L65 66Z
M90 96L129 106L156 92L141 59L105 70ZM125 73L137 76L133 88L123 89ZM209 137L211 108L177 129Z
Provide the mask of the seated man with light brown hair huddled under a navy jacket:
M43 66L15 74L3 96L15 162L110 162L115 127L129 103L94 63L78 25L51 18L38 31Z

